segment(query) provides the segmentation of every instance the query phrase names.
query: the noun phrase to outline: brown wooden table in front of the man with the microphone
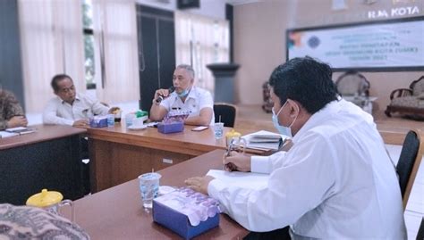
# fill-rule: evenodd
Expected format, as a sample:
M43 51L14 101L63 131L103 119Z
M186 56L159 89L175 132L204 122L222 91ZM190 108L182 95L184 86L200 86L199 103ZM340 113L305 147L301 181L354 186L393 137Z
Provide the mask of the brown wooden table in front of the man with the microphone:
M121 125L88 128L91 192L122 184L141 173L162 170L216 149L225 149L225 137L216 140L212 128L197 132L162 134L157 128L133 131ZM231 128L225 128L224 135ZM242 134L256 129L237 129ZM251 153L264 153L253 151Z

